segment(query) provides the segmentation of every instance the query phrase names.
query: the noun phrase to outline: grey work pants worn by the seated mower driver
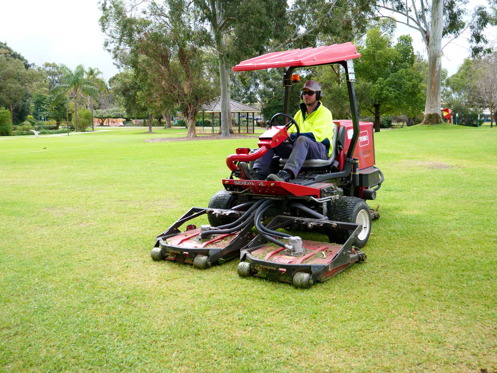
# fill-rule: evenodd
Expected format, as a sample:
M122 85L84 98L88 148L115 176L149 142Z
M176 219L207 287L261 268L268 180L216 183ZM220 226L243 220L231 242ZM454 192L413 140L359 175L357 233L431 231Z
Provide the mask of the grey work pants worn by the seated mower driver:
M293 144L282 143L276 148L269 149L266 154L257 159L253 165L254 169L263 170L266 175L269 174L269 167L274 154L281 158L288 158L284 169L292 171L296 177L306 159L328 159L326 147L309 137L299 136Z

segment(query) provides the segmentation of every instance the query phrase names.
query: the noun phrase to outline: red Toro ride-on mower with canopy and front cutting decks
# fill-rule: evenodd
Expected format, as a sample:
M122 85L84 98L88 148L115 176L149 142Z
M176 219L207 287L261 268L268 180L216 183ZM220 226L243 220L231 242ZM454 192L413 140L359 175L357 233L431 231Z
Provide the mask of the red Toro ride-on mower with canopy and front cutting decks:
M270 128L259 136L258 149L239 148L228 156L232 173L223 180L224 189L214 194L207 208L192 208L159 235L152 258L205 269L240 252L240 276L275 277L302 288L365 260L361 248L369 238L371 219L379 218L365 200L376 198L383 174L374 166L373 123L357 119L352 63L357 57L355 45L345 43L269 53L237 65L233 70L284 68L283 112L271 118ZM292 82L298 79L293 70L327 64L345 69L352 116L352 120L330 123L334 126L330 158L306 160L299 175L287 183L244 180L238 162L253 164L268 149L300 135L297 122L288 114ZM292 125L296 137L290 140L287 130ZM283 169L286 161L275 156L270 173ZM205 213L209 225L190 224L185 232L179 231L181 225ZM303 240L282 230L322 233L330 242Z

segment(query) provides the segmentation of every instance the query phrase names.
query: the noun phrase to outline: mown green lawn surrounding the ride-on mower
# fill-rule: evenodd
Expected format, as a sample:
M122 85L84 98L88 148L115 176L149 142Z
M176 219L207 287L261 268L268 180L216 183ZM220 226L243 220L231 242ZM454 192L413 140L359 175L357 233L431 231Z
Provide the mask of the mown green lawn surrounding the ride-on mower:
M376 134L368 261L309 290L153 262L257 139L141 132L0 141L1 372L497 371L497 129Z

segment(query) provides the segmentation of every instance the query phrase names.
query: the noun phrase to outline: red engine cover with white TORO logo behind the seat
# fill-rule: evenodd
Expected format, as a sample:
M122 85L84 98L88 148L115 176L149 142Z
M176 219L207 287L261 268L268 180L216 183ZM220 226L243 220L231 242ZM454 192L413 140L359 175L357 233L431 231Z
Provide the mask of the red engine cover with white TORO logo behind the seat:
M354 128L351 120L333 120L333 123L338 126L338 129L340 127L345 127L344 149L336 156L336 159L340 163L339 170L341 171L345 161L345 153L352 140ZM372 122L359 122L359 140L354 149L354 158L359 158L359 170L374 166L375 156Z

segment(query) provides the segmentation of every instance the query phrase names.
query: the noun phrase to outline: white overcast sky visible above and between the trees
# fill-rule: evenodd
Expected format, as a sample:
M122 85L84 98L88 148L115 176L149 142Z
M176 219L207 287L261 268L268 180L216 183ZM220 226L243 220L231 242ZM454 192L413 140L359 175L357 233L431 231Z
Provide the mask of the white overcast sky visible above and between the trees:
M471 1L472 6L478 3L485 1ZM98 25L100 11L97 1L6 1L2 4L2 13L8 16L3 16L0 22L0 40L29 62L38 66L45 62L63 63L71 69L79 64L97 67L105 80L118 73L109 53L103 50L104 36ZM399 24L395 38L407 33L413 36L414 50L426 57L418 31ZM497 40L496 27L488 28L486 34L489 40ZM464 58L469 56L467 47L467 41L459 38L443 50L442 67L449 71L449 75L454 74Z

